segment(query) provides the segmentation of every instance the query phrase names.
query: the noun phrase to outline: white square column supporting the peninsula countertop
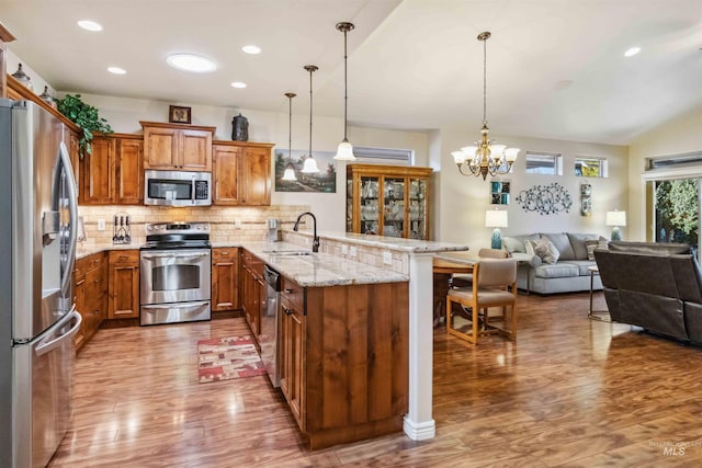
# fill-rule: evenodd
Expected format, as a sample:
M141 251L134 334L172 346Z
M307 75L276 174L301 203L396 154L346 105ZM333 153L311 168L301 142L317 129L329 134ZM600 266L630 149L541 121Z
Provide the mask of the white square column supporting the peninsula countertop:
M433 438L433 254L409 254L409 411L403 429L414 441Z

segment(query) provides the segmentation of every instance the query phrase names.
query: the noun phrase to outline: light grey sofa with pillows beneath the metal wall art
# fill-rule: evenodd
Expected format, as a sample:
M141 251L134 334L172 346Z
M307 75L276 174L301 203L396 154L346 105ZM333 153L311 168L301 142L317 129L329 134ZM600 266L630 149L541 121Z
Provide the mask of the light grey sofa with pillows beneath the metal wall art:
M542 237L547 238L558 250L555 263L545 263L539 255L526 253L525 241L539 241ZM586 244L586 241L590 242ZM588 267L597 263L588 259L588 248L592 252L598 242L602 247L607 240L598 235L571 232L502 237L502 248L519 261L517 287L539 294L590 290ZM599 275L595 275L592 288L602 289Z

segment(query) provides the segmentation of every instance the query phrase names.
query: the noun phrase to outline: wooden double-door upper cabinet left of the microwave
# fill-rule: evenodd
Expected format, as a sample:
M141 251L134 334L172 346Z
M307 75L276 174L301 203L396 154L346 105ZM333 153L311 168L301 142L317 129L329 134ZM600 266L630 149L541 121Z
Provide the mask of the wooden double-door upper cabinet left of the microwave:
M81 203L140 205L144 202L144 141L140 135L95 135L84 155Z

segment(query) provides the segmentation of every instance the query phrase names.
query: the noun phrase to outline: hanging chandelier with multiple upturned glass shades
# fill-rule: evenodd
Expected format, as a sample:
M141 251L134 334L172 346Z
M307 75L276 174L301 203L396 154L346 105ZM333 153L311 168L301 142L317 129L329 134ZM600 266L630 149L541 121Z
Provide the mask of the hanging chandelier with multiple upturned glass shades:
M506 145L492 145L495 140L488 139L489 128L487 127L487 39L490 37L489 31L478 34L478 41L483 43L483 128L480 128L480 139L475 141L475 146L466 146L458 151L453 151L453 160L463 175L483 175L483 180L488 174L506 174L512 168L519 155L519 148L507 148Z

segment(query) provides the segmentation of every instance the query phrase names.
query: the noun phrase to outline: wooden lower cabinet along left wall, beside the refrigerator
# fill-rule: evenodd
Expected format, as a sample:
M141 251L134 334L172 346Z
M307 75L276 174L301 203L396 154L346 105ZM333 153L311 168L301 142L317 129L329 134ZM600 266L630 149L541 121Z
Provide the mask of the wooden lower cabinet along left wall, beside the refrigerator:
M76 339L76 349L86 344L107 317L107 255L94 253L76 261L73 270L76 308L83 322L82 339Z

